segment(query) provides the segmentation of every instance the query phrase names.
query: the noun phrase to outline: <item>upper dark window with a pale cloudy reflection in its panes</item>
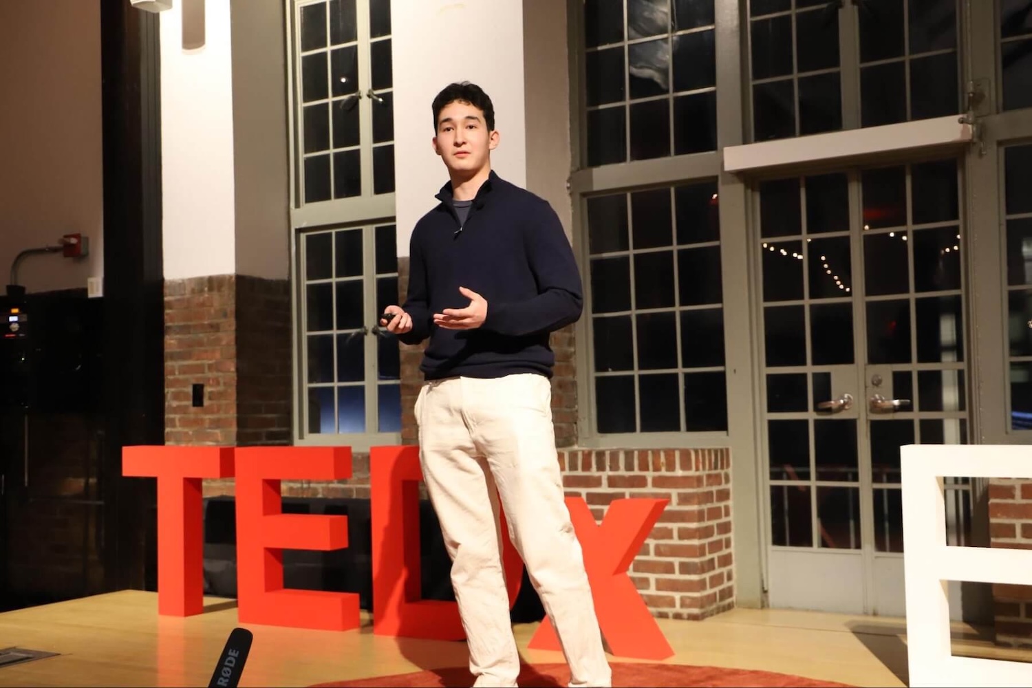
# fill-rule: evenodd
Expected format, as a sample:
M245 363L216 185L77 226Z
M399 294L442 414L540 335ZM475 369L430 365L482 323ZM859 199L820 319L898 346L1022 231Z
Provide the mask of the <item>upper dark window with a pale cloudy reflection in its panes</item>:
M587 164L716 150L713 0L585 0Z

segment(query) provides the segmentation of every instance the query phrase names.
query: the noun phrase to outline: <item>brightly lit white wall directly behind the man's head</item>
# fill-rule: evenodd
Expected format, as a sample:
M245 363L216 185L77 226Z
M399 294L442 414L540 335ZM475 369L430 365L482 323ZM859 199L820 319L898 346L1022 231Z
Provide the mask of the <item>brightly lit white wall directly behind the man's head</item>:
M413 226L448 181L430 146L430 104L448 84L474 81L491 97L502 134L492 166L513 184L526 184L523 2L391 0L391 25L397 249L408 256Z

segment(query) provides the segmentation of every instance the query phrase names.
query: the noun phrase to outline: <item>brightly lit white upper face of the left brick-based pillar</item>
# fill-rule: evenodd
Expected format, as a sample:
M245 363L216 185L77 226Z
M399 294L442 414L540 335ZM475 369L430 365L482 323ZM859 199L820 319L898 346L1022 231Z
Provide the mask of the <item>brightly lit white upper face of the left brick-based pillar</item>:
M236 270L229 0L205 0L203 47L183 50L183 2L161 12L166 280Z

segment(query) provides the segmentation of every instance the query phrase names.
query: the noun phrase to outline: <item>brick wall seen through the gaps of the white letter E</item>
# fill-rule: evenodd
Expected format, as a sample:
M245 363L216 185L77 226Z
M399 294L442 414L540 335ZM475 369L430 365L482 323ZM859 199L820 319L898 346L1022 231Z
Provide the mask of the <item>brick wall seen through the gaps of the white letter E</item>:
M1032 549L1032 482L993 481L989 487L992 547ZM994 585L996 642L1032 647L1032 586Z

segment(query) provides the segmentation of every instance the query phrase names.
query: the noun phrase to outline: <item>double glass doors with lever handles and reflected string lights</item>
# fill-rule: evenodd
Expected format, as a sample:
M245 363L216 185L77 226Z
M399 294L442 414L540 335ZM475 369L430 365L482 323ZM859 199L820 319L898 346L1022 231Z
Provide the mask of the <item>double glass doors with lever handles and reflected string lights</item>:
M960 183L950 159L759 186L771 607L904 612L899 448L967 441Z

